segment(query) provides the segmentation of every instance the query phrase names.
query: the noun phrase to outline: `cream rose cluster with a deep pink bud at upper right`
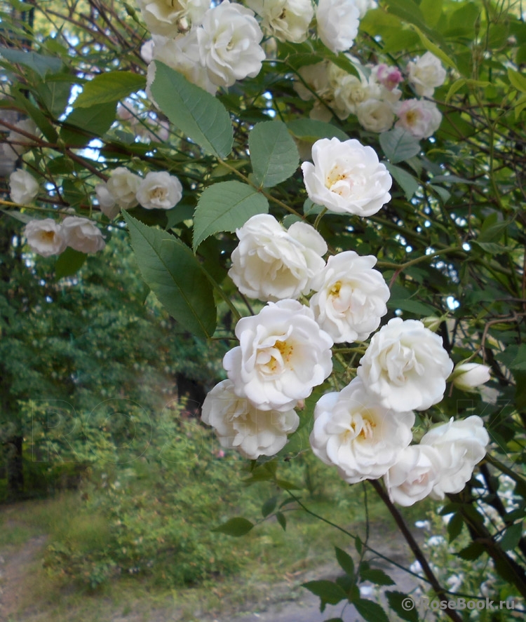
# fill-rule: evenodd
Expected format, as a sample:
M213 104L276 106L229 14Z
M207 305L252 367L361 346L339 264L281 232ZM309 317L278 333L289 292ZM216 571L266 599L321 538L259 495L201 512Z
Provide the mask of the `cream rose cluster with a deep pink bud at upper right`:
M412 98L400 101L402 91L398 85L403 75L398 67L382 63L365 69L349 56L358 69L360 77L347 73L332 62L323 61L299 69L302 81L295 82L295 89L302 100L316 99L311 117L328 121L331 109L346 119L350 114L370 132L386 132L400 127L421 140L431 136L442 121L442 114L434 102ZM437 86L444 83L445 69L440 60L426 52L416 61L407 64L407 81L420 97L432 97ZM323 104L325 102L327 106Z

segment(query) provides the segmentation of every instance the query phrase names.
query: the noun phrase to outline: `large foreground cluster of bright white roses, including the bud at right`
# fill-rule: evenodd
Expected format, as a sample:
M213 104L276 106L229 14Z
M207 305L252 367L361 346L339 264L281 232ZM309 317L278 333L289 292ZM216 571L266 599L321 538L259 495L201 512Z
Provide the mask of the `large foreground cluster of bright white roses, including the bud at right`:
M328 209L370 215L389 201L391 177L372 148L324 139L313 160L302 166L306 189ZM256 215L236 234L229 276L267 305L238 321L239 345L223 360L228 379L208 393L202 417L223 447L257 459L276 454L296 430L295 407L332 372L333 344L362 342L377 330L389 288L375 257L348 250L325 263L327 245L306 222L285 229ZM309 306L299 302L311 292ZM460 367L453 375L472 376L465 386L487 379L487 368L480 375ZM418 320L391 319L372 337L357 377L318 400L314 454L349 483L383 477L401 505L459 492L489 442L480 417L452 420L411 445L414 410L442 400L452 370L438 335Z

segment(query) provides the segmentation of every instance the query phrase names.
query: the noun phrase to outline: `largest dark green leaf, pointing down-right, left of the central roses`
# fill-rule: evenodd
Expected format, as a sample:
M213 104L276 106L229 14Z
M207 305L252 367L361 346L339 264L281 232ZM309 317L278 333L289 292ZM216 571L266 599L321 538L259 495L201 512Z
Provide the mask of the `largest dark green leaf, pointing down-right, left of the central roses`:
M166 231L147 227L126 212L142 278L185 330L208 339L215 330L213 290L191 250Z

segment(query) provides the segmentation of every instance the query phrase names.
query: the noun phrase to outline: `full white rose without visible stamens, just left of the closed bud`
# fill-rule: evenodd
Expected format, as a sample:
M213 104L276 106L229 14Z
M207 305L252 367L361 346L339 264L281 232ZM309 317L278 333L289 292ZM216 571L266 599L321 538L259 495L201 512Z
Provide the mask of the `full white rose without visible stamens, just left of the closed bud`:
M418 320L393 318L373 335L357 374L386 408L426 410L443 398L452 369L438 334Z

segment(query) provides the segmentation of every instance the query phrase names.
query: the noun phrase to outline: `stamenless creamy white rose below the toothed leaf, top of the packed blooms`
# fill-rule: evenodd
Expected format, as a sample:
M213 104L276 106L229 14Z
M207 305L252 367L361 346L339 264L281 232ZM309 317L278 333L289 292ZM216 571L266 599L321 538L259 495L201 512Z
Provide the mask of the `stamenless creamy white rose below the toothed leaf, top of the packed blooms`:
M297 298L311 290L311 279L325 266L327 244L305 222L285 229L268 214L252 216L236 230L229 276L241 293L264 301Z

